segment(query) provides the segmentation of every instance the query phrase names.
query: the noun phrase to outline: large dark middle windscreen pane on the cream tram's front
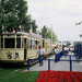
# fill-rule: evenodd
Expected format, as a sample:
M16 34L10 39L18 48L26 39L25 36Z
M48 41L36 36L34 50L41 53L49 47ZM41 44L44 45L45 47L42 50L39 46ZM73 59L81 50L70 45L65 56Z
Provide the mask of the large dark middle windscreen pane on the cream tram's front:
M4 48L15 48L15 38L4 38Z

